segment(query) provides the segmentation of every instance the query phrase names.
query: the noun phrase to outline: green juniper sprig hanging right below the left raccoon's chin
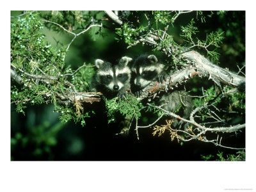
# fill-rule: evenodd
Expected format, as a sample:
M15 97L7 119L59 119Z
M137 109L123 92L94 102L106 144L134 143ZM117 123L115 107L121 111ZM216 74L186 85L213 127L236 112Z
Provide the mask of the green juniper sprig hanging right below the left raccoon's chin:
M140 111L143 108L140 100L137 100L136 97L132 97L130 95L127 95L127 98L123 100L117 99L117 97L110 100L104 98L106 102L106 108L108 109L108 122L115 122L115 116L117 113L120 113L122 116L125 117L125 119L131 116L134 116L136 120L140 118Z

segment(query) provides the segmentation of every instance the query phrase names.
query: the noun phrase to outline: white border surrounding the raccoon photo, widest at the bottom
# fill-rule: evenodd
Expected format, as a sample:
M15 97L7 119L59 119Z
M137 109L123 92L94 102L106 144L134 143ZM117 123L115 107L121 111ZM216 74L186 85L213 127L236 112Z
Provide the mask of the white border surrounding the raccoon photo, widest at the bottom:
M164 3L166 2L166 3ZM9 1L1 11L0 191L255 191L253 1ZM7 5L6 5L7 3ZM246 162L10 162L10 10L246 10ZM7 38L9 37L9 38ZM7 49L7 47L9 49Z

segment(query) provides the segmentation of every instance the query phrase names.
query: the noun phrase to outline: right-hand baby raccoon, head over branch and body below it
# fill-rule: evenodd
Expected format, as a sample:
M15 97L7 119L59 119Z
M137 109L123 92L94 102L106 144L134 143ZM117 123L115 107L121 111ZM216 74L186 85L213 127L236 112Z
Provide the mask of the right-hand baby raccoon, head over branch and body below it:
M149 83L157 79L158 82L163 83L166 80L166 73L163 70L163 64L159 63L154 54L142 54L135 58L131 65L132 79L131 84L135 95L139 96L141 90ZM164 105L163 105L164 104ZM184 106L182 118L188 118L193 109L192 99L186 95L184 90L175 90L173 92L164 93L159 98L159 106L167 111L175 111L180 106ZM182 121L173 124L173 127L181 127Z

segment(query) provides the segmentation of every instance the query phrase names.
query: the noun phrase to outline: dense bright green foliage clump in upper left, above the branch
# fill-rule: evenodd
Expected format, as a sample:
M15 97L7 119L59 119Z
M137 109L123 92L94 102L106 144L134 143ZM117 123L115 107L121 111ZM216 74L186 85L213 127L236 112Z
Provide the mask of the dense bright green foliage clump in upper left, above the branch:
M43 28L37 12L28 13L22 19L12 19L11 62L28 73L33 73L36 68L44 68L53 76L58 71L49 64L63 65L65 49L55 51L40 32Z

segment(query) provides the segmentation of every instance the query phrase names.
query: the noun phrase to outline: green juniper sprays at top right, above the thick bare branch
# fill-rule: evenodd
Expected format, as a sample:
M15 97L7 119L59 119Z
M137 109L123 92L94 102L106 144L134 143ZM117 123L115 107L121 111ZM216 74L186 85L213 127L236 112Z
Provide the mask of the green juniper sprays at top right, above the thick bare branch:
M220 53L218 52L218 48L220 48L225 35L223 31L209 31L209 33L205 33L206 37L204 40L204 38L202 38L200 35L198 27L195 26L195 18L192 18L185 26L183 24L180 25L181 33L179 35L182 38L183 43L180 45L180 49L178 50L176 47L180 44L178 42L181 41L177 41L177 37L170 32L172 31L170 26L172 26L174 30L179 28L179 26L175 26L175 22L177 22L176 19L180 14L185 15L184 12L152 11L143 13L144 14L139 14L140 16L136 20L137 22L129 21L121 26L121 28L116 28L116 34L119 36L119 38L116 39L124 40L124 42L129 45L135 45L136 40L145 37L150 38L151 35L155 35L159 38L159 40L157 40L157 44L155 44L152 48L153 51L165 50L166 52L166 50L172 46L175 48L175 50L172 50L172 56L177 58L182 50L184 51L192 48L202 49L202 51L206 54L205 56L207 56L209 60L211 60L213 63L219 62ZM196 19L199 17L201 22L205 23L207 22L207 17L213 17L214 14L223 15L224 13L225 12L205 13L198 11L196 12ZM143 19L142 15L146 17L148 22L139 22L139 20ZM155 25L156 29L152 29ZM184 64L179 63L179 61L176 60L177 59L173 60L173 64L175 64L175 66L177 66L177 64Z

